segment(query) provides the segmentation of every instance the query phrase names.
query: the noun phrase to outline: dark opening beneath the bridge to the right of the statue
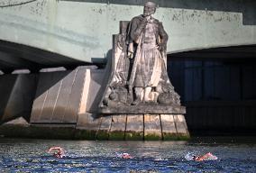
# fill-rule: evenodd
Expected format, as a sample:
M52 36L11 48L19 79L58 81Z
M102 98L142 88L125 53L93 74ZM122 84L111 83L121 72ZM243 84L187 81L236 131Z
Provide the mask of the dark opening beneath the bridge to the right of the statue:
M255 135L256 45L169 55L192 135Z

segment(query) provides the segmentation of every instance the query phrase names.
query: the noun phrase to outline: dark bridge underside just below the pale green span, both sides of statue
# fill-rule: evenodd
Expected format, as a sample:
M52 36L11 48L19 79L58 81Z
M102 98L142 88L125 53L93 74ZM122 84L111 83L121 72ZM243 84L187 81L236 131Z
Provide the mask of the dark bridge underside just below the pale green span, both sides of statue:
M256 58L256 45L191 50L172 53L168 57L172 60L251 59ZM0 40L0 70L5 74L12 73L16 69L28 69L31 72L39 72L41 68L64 67L66 69L73 69L84 65L92 64L47 50L40 50L30 46ZM102 63L95 65L102 67Z

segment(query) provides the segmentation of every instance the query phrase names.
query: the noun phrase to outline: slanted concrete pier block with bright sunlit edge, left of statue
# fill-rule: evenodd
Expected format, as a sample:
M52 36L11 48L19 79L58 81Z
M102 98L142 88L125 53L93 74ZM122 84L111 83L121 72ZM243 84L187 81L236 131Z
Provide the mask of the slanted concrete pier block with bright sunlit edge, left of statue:
M78 116L96 114L105 73L94 68L41 72L30 122L77 124Z

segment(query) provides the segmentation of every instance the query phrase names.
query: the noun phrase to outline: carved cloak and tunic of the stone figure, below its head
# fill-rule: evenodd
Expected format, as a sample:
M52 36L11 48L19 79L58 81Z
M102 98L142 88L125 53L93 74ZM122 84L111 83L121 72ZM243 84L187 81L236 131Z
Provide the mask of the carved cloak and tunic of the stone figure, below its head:
M133 58L136 59L136 64L133 65L133 87L157 87L165 67L159 48L168 41L162 24L153 18L145 23L142 15L134 17L129 29L129 38L130 42L133 42Z

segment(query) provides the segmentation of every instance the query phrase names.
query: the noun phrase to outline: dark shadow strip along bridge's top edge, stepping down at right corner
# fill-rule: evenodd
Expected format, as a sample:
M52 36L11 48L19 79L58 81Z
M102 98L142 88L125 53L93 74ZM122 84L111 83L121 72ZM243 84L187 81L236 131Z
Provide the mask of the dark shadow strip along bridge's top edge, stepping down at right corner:
M86 3L143 5L148 0L59 0ZM256 1L254 0L151 0L160 7L189 10L209 10L219 12L242 13L242 24L256 24Z

